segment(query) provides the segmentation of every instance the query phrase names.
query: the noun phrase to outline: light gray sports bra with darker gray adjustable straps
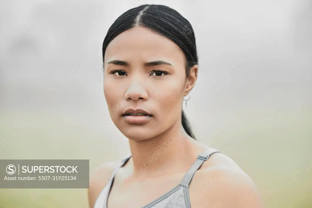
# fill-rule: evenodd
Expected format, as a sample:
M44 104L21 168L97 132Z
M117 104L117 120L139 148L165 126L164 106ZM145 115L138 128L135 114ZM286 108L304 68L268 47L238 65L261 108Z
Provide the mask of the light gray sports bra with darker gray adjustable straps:
M204 151L202 152L202 154L199 154L197 156L197 160L185 174L182 182L178 186L174 187L171 191L168 191L163 196L158 197L157 199L142 208L191 208L188 186L195 172L200 168L202 163L216 152L219 151L214 151L212 153ZM124 164L130 159L130 157L131 156L124 158L121 161L120 165L115 169L112 176L110 177L110 180L96 199L94 208L107 208L107 200L114 183L116 172L120 167L124 166Z

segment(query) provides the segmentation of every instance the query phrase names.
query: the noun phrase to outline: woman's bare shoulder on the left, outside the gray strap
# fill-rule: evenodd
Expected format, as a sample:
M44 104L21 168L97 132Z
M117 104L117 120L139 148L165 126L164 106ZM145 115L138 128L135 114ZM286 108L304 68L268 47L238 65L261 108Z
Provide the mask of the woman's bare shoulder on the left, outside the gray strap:
M96 168L90 176L89 182L89 206L94 207L97 197L109 182L112 174L121 164L124 159L119 159L107 163L103 163Z

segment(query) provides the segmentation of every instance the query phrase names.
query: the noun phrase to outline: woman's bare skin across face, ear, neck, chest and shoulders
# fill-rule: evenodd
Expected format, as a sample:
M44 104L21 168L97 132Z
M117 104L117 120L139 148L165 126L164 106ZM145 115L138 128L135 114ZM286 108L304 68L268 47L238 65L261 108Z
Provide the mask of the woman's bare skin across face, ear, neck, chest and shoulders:
M143 207L177 186L198 154L213 151L188 136L181 124L183 96L194 87L198 66L186 77L185 56L178 46L142 27L115 37L104 60L104 94L110 116L129 139L132 155L115 176L108 208ZM170 65L146 64L155 61ZM144 124L131 124L123 116L129 108L141 108L153 116ZM119 163L104 164L91 177L90 208ZM192 208L262 207L250 177L221 153L213 154L195 173L189 194Z

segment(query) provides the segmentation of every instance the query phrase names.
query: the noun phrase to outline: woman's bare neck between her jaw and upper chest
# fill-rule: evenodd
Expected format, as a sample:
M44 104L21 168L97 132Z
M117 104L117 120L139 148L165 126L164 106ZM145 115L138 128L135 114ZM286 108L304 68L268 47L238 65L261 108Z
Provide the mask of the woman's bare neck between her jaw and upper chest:
M179 125L154 138L129 140L133 176L145 179L187 171L185 164L193 164L193 156L205 149L198 143Z

